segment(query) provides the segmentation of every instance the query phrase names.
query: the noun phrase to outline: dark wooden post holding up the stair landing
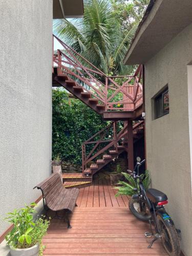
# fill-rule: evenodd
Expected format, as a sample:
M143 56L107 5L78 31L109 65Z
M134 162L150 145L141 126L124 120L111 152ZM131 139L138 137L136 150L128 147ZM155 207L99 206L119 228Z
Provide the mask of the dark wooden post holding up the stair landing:
M133 121L127 120L127 158L128 158L128 169L134 169L134 151L133 151Z

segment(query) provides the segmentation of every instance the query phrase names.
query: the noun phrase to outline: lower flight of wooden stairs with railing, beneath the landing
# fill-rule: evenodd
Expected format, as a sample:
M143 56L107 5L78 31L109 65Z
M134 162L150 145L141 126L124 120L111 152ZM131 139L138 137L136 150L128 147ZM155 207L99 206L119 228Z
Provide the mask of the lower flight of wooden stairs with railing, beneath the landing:
M138 121L133 126L134 142L143 137L143 123L143 121ZM127 123L124 122L119 133L117 132L118 124L121 125L119 122L112 122L82 144L82 173L84 175L93 176L122 152L127 152L127 136L129 136ZM92 148L87 149L90 145Z

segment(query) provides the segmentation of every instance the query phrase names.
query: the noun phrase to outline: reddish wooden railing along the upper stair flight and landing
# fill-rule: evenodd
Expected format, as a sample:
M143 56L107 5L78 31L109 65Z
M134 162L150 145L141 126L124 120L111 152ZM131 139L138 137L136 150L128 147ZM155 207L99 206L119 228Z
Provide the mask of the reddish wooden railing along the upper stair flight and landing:
M141 65L133 75L107 76L58 37L53 35L53 38L63 48L53 51L57 75L66 74L69 80L82 86L84 92L89 92L105 106L105 111L135 111L142 104Z

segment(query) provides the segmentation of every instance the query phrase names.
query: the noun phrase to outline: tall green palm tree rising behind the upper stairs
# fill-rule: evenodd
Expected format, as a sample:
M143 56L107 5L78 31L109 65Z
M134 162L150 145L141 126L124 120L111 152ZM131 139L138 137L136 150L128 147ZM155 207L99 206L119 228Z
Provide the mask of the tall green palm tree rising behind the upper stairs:
M110 0L84 0L84 17L55 19L54 33L108 75L127 75L132 66L123 58L138 24L123 32Z

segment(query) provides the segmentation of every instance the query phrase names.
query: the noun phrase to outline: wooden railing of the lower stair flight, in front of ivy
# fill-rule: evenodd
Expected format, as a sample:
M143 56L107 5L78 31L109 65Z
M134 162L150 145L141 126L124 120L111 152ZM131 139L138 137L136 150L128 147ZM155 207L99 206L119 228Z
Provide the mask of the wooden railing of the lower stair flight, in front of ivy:
M137 132L143 126L143 121L133 125L133 133ZM108 154L109 150L118 151L118 145L126 143L127 122L111 122L108 126L96 133L82 144L82 172L87 168L87 164L102 155Z

